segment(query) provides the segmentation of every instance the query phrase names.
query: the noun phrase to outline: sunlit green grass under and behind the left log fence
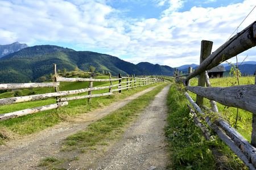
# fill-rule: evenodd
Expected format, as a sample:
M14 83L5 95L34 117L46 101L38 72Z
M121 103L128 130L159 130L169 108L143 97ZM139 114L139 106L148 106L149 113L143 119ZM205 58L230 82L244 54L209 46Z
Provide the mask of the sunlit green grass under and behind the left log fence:
M109 76L98 76L98 78L108 79ZM113 84L117 84L117 83L118 82L113 82ZM110 85L110 82L93 82L93 87L109 86L109 85ZM31 133L35 133L36 131L46 129L49 126L53 126L58 124L59 122L68 120L70 117L74 117L77 114L87 113L92 111L93 109L104 107L105 105L109 105L115 101L124 99L127 96L133 95L139 91L142 91L146 88L156 86L156 85L157 84L152 84L148 86L133 88L131 90L123 90L121 94L119 94L118 92L114 92L112 96L92 98L90 103L88 103L88 99L69 101L69 104L67 106L59 109L52 109L49 111L28 114L26 116L0 122L0 144L4 143L6 140L14 139L18 136L31 134ZM88 86L89 86L89 82L72 82L72 83L61 82L59 90L60 91L76 90L76 89L86 88ZM34 94L46 94L49 92L55 92L53 88L34 88L32 91L34 91ZM99 93L104 93L108 91L109 89L93 91L92 94L99 94ZM30 92L31 91L28 89L22 90L23 95L29 95ZM87 95L87 94L88 92L85 92L79 95ZM6 98L6 97L14 97L14 92L6 92L4 94L0 94L0 98ZM2 105L0 107L0 114L20 111L22 109L27 109L27 108L39 107L42 105L48 105L52 103L56 103L56 99L50 98L45 100L30 101L26 103Z

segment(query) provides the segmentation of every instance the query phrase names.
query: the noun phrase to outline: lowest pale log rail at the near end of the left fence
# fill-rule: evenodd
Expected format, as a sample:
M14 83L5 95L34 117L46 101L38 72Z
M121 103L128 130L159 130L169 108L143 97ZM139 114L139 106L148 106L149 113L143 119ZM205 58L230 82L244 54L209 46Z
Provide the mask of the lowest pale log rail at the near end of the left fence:
M1 121L5 121L5 120L9 120L11 118L16 118L16 117L24 116L24 115L27 115L27 114L48 111L50 109L63 107L64 105L68 105L68 102L65 101L64 103L49 104L49 105L44 105L42 107L24 109L22 111L16 111L16 112L11 112L11 113L1 114L0 115L0 122Z

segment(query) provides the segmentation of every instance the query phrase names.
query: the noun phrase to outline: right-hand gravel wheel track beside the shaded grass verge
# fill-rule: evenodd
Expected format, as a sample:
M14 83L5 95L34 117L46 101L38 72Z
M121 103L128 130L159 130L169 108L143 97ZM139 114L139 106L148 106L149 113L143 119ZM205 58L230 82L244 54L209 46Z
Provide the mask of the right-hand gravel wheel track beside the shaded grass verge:
M164 142L166 98L170 85L156 95L148 107L125 130L123 138L102 158L86 169L166 169L168 152Z

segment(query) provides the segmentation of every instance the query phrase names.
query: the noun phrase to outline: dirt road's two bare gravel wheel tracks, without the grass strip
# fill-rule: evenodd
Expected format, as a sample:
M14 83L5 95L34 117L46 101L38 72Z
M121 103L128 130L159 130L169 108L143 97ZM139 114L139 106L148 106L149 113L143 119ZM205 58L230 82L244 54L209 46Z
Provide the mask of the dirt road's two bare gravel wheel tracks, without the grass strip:
M63 122L40 131L40 133L8 142L7 145L0 147L1 169L43 169L43 167L38 167L39 161L42 158L60 153L60 144L68 135L86 128L93 121L106 116L115 109L123 107L131 100L153 88L155 87L127 97L118 104L115 103L109 107L81 114L69 122ZM104 147L104 151L94 153L91 156L93 158L90 160L88 160L86 154L80 155L81 159L68 163L63 168L69 170L164 169L168 156L164 147L163 127L164 120L167 117L166 95L169 88L170 86L165 87L155 97L150 107L125 131L120 141Z

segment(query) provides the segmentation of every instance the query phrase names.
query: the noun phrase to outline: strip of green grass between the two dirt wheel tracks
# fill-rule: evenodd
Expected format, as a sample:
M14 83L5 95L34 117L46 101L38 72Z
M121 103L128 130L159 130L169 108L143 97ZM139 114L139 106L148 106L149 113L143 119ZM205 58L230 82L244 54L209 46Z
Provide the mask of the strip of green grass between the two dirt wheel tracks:
M117 139L123 133L123 128L127 128L130 122L134 121L138 117L138 114L142 113L144 108L150 105L155 95L165 86L167 84L156 87L154 90L139 96L117 111L90 124L86 130L81 130L76 134L70 135L65 139L62 151L67 152L67 155L71 155L69 151L73 150L76 153L80 152L80 154L83 154L90 150L97 150L97 146L108 145L108 141ZM66 158L64 162L67 163L68 161L68 158ZM47 164L46 166L51 165ZM56 167L59 166L56 165Z

